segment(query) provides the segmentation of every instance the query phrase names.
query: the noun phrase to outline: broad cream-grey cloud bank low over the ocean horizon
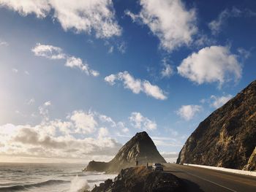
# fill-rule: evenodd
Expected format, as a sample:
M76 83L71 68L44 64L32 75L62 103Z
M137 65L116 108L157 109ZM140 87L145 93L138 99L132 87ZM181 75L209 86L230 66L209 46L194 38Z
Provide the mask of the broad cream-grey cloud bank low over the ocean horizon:
M50 101L42 105L49 106ZM0 154L87 161L99 156L111 158L122 145L110 137L107 127L113 124L102 116L111 119L98 112L80 110L72 112L66 120L44 118L34 126L5 124L0 126ZM124 123L113 123L113 130L122 132Z

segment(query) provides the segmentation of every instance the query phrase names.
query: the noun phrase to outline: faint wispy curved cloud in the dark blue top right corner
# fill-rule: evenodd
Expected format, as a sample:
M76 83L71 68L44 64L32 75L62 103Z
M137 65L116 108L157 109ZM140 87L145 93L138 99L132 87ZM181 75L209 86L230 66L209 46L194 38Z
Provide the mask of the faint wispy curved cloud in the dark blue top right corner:
M232 7L232 9L223 10L217 17L216 20L212 20L208 27L211 29L212 34L218 34L221 31L221 27L227 21L228 18L238 18L238 17L255 17L256 12L252 12L249 9L238 9Z

